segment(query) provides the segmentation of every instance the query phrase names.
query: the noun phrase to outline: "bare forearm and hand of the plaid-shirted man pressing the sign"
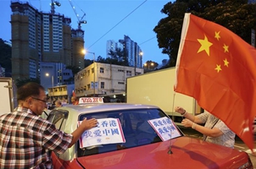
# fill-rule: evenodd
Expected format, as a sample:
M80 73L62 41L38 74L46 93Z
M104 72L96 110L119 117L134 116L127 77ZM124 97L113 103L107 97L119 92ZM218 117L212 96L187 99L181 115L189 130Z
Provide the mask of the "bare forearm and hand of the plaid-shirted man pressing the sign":
M81 125L72 133L73 139L69 145L69 148L75 144L75 142L81 137L87 129L91 129L97 126L97 120L95 118L86 120L84 119Z

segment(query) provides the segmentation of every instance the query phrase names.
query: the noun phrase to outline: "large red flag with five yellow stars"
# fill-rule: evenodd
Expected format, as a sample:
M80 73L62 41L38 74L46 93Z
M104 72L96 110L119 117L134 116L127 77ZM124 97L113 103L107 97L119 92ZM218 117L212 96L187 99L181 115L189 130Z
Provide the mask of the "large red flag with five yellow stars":
M190 95L219 117L253 150L256 50L238 35L185 14L176 63L175 91Z

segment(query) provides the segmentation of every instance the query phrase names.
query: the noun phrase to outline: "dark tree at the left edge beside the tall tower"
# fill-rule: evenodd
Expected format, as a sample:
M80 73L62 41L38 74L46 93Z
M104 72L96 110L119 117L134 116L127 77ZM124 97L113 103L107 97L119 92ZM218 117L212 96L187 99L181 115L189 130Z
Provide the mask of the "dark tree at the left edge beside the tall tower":
M5 75L11 77L12 73L12 47L4 43L0 38L0 65L5 68Z

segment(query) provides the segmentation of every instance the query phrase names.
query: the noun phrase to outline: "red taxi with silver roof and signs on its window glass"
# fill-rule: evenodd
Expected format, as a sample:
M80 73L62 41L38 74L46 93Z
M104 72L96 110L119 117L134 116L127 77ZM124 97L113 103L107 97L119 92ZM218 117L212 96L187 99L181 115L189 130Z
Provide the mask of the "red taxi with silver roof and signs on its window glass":
M163 141L150 125L155 119L169 118L157 106L125 103L69 105L54 109L47 120L71 134L78 121L85 117L118 119L125 142L81 147L80 140L62 155L52 153L53 168L253 169L247 153L186 137L177 126L173 128L175 137Z

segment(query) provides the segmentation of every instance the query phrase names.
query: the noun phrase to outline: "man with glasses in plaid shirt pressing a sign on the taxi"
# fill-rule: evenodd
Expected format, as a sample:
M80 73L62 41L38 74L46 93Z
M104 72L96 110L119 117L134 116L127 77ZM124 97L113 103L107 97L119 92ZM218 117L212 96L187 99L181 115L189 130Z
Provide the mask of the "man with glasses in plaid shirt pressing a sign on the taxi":
M17 91L19 106L0 116L0 168L52 168L51 151L64 153L96 119L84 120L72 134L65 134L40 117L47 107L42 85L28 83Z

